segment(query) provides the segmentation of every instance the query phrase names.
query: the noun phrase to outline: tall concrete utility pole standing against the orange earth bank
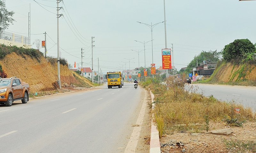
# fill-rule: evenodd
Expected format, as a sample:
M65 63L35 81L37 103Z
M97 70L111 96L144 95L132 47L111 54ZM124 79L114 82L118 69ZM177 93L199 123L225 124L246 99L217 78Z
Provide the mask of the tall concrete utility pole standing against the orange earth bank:
M60 43L59 43L59 18L63 15L63 14L59 14L59 10L62 8L62 7L59 7L59 3L61 2L62 0L57 0L57 50L58 50L58 56L57 56L57 64L58 64L58 84L59 84L59 87L61 89L61 83L60 83Z

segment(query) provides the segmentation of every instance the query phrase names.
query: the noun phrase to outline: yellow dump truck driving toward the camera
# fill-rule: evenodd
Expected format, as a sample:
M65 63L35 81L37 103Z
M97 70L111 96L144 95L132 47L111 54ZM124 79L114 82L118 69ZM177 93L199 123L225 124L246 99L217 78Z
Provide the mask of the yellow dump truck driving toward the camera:
M122 88L124 80L121 72L107 72L106 79L108 80L108 89L112 87Z

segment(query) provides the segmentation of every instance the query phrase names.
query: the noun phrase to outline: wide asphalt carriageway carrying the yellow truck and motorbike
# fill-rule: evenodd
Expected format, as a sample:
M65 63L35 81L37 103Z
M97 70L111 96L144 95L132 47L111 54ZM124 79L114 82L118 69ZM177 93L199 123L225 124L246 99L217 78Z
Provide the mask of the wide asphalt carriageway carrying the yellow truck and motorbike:
M142 106L141 92L125 83L1 105L0 152L124 152Z

